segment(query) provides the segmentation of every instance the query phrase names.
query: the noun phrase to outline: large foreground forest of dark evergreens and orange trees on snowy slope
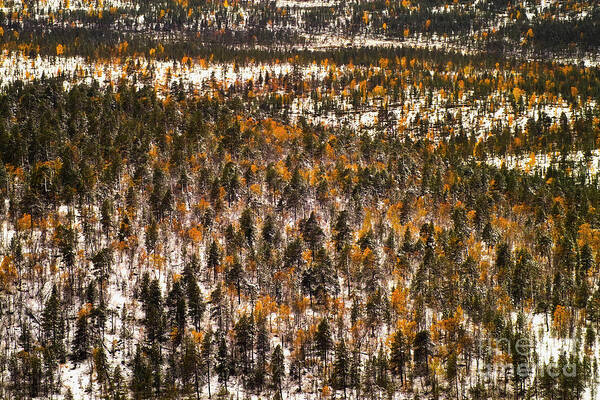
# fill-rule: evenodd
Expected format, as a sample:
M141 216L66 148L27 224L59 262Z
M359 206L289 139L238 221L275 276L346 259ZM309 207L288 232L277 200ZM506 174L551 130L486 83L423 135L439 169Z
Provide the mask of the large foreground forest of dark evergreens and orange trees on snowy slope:
M5 91L4 396L67 393L65 363L119 399L595 390L587 173L244 104L126 84ZM544 374L536 346L514 356L549 335L577 343L555 355L575 376ZM493 378L473 380L486 365Z

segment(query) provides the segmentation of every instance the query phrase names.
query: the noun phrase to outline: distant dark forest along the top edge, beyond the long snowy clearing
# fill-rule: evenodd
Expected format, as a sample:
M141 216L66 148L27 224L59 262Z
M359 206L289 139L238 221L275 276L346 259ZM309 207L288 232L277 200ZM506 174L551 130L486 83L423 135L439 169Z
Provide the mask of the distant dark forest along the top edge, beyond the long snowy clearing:
M550 54L596 54L600 37L600 9L589 1L561 0L543 9L528 0L359 0L336 1L335 7L271 0L153 0L114 6L73 2L60 12L39 0L27 2L26 8L7 6L0 12L6 31L0 35L3 46L54 55L61 44L65 54L87 57L117 55L123 42L131 54L148 54L160 44L183 53L177 58L207 49L218 53L221 47L310 48L307 36L335 34L398 42L435 38L461 50L545 59Z

